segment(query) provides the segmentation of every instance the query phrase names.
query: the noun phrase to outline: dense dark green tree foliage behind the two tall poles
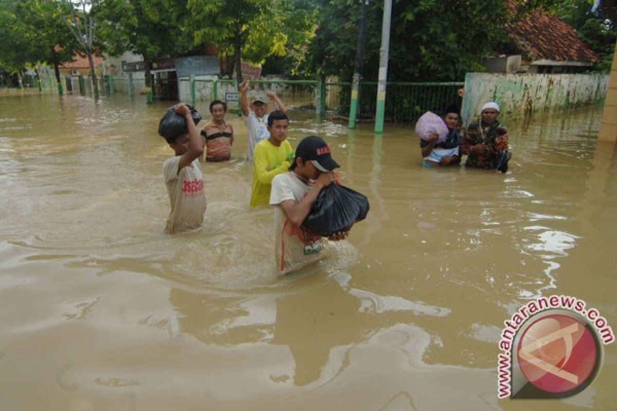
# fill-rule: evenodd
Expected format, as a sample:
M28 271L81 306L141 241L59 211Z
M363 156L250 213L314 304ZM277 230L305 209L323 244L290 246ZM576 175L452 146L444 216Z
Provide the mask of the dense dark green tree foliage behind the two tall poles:
M350 79L360 2L317 0L320 23L309 46L309 68ZM383 4L368 6L364 78L376 80ZM481 16L481 18L479 18ZM495 44L505 39L505 0L394 0L390 33L390 81L460 81L479 70Z

